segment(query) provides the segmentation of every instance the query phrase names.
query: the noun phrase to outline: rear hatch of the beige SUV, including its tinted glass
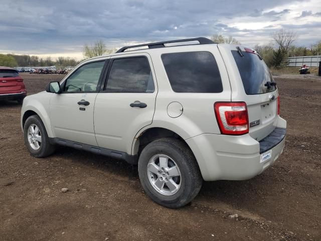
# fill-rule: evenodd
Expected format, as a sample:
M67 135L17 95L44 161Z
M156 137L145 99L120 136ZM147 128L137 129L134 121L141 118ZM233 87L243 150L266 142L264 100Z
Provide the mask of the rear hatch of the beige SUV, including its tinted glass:
M232 89L231 101L244 101L249 116L249 134L257 141L268 136L276 126L278 91L262 60L252 49L219 45L228 68Z

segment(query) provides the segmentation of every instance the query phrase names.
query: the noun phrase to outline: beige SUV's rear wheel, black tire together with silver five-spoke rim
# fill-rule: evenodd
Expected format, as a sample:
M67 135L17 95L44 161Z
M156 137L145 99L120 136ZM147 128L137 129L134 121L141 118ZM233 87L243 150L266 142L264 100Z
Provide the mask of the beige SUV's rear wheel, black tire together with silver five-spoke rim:
M138 174L148 196L170 208L191 202L203 181L192 151L174 138L149 143L140 154Z

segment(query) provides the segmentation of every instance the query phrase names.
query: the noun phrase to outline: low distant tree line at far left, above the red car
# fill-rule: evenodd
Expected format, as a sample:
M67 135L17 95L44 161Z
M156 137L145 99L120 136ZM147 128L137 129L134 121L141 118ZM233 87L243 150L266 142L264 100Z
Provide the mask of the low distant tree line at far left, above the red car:
M0 54L0 66L8 67L28 67L28 66L75 66L79 63L74 58L70 57L58 57L56 60L53 60L50 56L46 58L39 58L36 55L18 55L18 54Z

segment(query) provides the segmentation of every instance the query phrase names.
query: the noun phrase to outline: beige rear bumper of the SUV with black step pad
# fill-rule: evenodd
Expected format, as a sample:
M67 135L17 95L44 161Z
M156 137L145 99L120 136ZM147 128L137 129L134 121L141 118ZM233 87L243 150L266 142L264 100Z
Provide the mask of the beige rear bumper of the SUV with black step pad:
M203 134L186 142L197 159L205 181L246 180L266 170L283 152L286 121L279 117L278 123L275 131L260 142L249 134ZM268 151L271 151L271 156L261 161L261 155Z

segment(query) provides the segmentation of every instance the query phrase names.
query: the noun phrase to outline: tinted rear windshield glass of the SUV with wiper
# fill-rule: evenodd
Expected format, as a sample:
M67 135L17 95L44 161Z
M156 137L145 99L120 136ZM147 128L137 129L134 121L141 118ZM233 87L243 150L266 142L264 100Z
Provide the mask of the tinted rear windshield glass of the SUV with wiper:
M258 55L243 52L242 57L236 50L232 50L237 68L239 69L246 94L263 94L276 90L276 86L267 88L267 81L274 82L269 68Z

